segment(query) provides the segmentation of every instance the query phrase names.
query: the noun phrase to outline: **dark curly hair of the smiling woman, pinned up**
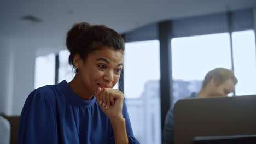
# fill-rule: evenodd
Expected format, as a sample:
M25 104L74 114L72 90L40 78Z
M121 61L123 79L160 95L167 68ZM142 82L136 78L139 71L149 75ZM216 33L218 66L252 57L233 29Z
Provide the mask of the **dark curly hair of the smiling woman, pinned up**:
M124 39L113 29L104 25L89 25L87 22L76 23L67 33L66 46L70 52L69 64L73 65L75 54L86 59L89 53L102 49L103 46L124 52ZM74 67L74 65L73 65Z

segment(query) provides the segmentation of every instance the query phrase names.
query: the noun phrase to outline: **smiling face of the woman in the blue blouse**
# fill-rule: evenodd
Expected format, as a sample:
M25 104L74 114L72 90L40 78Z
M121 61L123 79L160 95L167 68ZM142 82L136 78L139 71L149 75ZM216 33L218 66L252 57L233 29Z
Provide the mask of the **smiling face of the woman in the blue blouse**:
M78 75L88 94L98 87L113 88L123 68L123 51L103 47L90 53L78 69Z

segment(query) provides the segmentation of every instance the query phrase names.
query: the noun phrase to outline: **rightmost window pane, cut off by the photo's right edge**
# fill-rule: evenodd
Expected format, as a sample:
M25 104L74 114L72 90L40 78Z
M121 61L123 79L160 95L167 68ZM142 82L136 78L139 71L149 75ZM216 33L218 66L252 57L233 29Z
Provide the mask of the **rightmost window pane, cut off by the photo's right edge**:
M236 95L256 94L255 33L253 30L232 33L234 71L238 79Z

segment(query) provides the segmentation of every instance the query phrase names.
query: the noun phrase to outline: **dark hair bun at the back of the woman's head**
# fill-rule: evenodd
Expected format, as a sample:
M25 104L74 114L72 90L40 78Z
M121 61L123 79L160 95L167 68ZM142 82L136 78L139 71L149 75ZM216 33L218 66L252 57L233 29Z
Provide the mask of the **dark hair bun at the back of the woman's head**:
M85 29L90 28L91 25L87 22L75 23L73 27L67 33L66 46L69 51L73 49L75 39L81 34Z

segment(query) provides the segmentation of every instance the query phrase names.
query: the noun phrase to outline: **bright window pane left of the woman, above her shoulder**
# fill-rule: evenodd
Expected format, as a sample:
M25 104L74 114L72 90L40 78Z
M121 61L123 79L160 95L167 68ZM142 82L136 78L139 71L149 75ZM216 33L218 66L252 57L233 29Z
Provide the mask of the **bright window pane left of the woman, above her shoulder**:
M55 84L55 55L36 58L34 88Z

